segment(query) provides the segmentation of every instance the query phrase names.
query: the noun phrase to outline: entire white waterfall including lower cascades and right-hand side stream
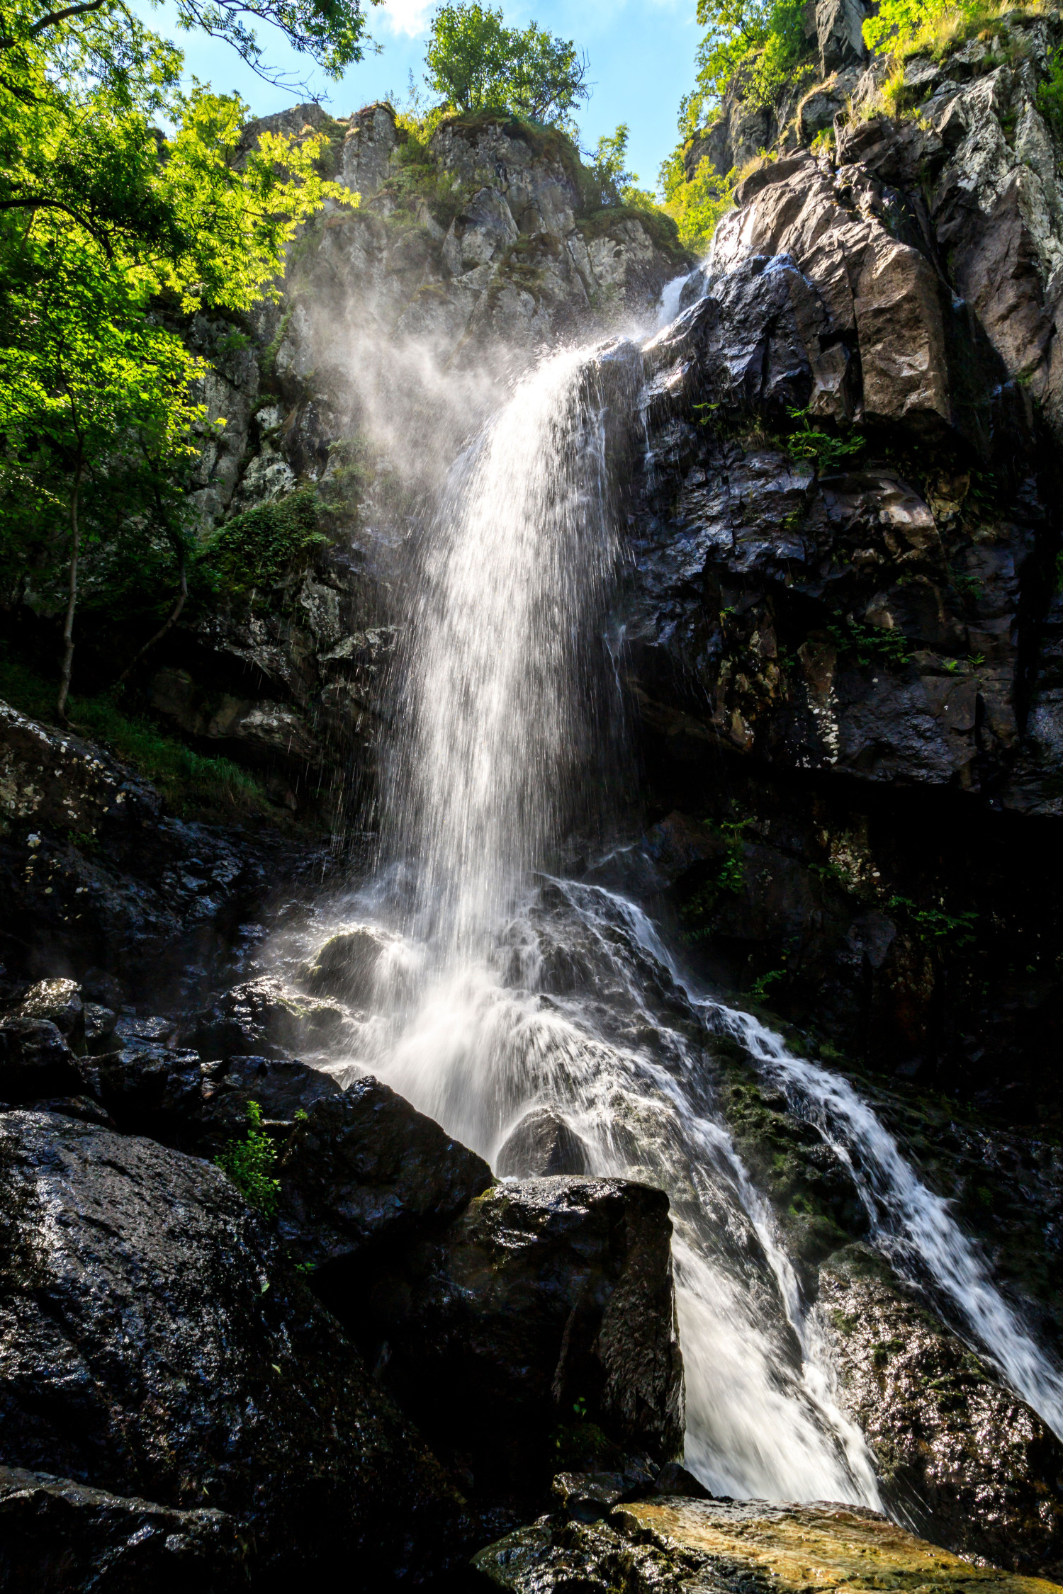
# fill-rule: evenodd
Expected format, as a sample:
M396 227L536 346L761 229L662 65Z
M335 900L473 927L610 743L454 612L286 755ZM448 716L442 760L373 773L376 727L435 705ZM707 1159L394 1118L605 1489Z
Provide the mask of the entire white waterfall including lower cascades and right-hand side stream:
M625 764L602 646L623 558L607 442L622 392L593 351L558 354L454 469L419 567L386 854L346 904L390 936L351 1062L489 1160L547 1106L593 1172L666 1189L687 1463L716 1494L881 1508L778 1223L727 1132L714 1035L739 1039L816 1125L851 1167L875 1242L950 1298L1061 1435L1063 1384L856 1092L700 993L593 870L551 869L574 826L607 824Z

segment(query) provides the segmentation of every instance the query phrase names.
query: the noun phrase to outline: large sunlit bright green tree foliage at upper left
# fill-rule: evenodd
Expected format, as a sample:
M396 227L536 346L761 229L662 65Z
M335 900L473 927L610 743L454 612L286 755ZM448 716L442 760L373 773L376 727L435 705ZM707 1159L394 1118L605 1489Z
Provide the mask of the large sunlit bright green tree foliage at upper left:
M250 309L298 223L351 199L324 139L244 147L239 97L182 94L177 51L116 16L0 14L0 579L54 607L65 571L61 716L86 548L161 544L186 591L206 367L183 320Z

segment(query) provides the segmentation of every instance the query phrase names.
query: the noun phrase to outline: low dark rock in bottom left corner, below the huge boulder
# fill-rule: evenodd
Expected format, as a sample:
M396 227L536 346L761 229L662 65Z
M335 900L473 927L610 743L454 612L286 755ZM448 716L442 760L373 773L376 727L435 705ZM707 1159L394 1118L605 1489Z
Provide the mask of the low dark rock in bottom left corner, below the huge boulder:
M225 1511L178 1511L69 1478L0 1466L0 1586L35 1594L212 1594L250 1588L247 1538Z

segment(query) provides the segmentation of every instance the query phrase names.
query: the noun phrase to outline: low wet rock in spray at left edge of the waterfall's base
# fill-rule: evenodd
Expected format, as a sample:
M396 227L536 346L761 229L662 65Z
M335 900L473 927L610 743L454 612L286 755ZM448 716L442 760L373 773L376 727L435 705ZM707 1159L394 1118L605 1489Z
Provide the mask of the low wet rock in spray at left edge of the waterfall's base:
M335 1003L292 991L273 974L234 985L190 1027L188 1036L207 1058L285 1057L341 1042L351 1019Z

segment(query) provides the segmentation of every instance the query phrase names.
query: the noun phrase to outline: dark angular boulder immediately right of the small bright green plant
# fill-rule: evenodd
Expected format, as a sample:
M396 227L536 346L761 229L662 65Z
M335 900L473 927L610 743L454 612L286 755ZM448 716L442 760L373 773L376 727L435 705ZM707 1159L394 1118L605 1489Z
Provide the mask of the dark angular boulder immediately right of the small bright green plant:
M277 1231L343 1312L357 1262L432 1235L491 1184L491 1168L373 1078L312 1101L277 1165Z

